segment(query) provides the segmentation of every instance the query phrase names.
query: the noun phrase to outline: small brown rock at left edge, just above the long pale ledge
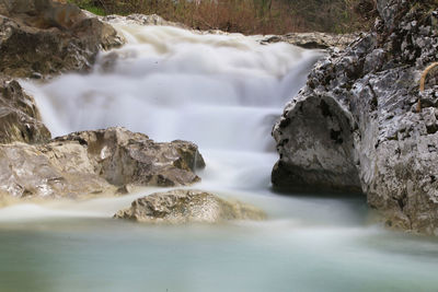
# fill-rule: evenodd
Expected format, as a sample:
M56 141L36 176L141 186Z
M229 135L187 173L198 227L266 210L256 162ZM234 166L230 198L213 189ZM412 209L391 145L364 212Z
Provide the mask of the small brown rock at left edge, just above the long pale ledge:
M43 143L50 132L41 120L35 101L20 83L0 78L0 143Z

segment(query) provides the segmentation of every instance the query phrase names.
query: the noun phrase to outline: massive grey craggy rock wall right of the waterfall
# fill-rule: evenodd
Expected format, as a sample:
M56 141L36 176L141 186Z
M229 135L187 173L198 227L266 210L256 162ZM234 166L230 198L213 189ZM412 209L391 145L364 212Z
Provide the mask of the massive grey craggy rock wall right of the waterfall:
M272 180L361 189L388 225L438 235L438 85L429 78L418 90L438 60L438 12L428 1L377 2L376 28L319 61L286 105Z

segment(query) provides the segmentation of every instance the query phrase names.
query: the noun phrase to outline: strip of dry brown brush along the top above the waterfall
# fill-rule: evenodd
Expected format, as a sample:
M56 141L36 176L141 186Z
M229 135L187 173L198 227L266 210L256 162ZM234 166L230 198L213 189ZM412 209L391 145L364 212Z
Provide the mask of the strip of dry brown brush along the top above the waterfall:
M70 0L96 14L159 14L188 26L244 34L367 30L374 0Z

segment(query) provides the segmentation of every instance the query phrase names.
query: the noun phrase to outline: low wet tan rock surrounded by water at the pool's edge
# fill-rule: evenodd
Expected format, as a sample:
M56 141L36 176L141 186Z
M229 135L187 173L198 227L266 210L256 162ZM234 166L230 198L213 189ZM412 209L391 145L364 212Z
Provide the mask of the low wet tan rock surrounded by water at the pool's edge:
M201 190L174 189L135 200L114 218L148 223L218 223L227 220L264 220L266 214L250 205L221 199Z

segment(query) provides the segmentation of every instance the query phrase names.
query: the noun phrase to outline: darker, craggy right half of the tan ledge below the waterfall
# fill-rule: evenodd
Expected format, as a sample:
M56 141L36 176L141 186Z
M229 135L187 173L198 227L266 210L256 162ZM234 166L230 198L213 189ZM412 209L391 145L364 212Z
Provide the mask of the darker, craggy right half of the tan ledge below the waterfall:
M113 185L184 186L199 182L194 173L205 166L196 144L187 141L158 143L124 128L74 132L55 139L87 147L95 172Z

